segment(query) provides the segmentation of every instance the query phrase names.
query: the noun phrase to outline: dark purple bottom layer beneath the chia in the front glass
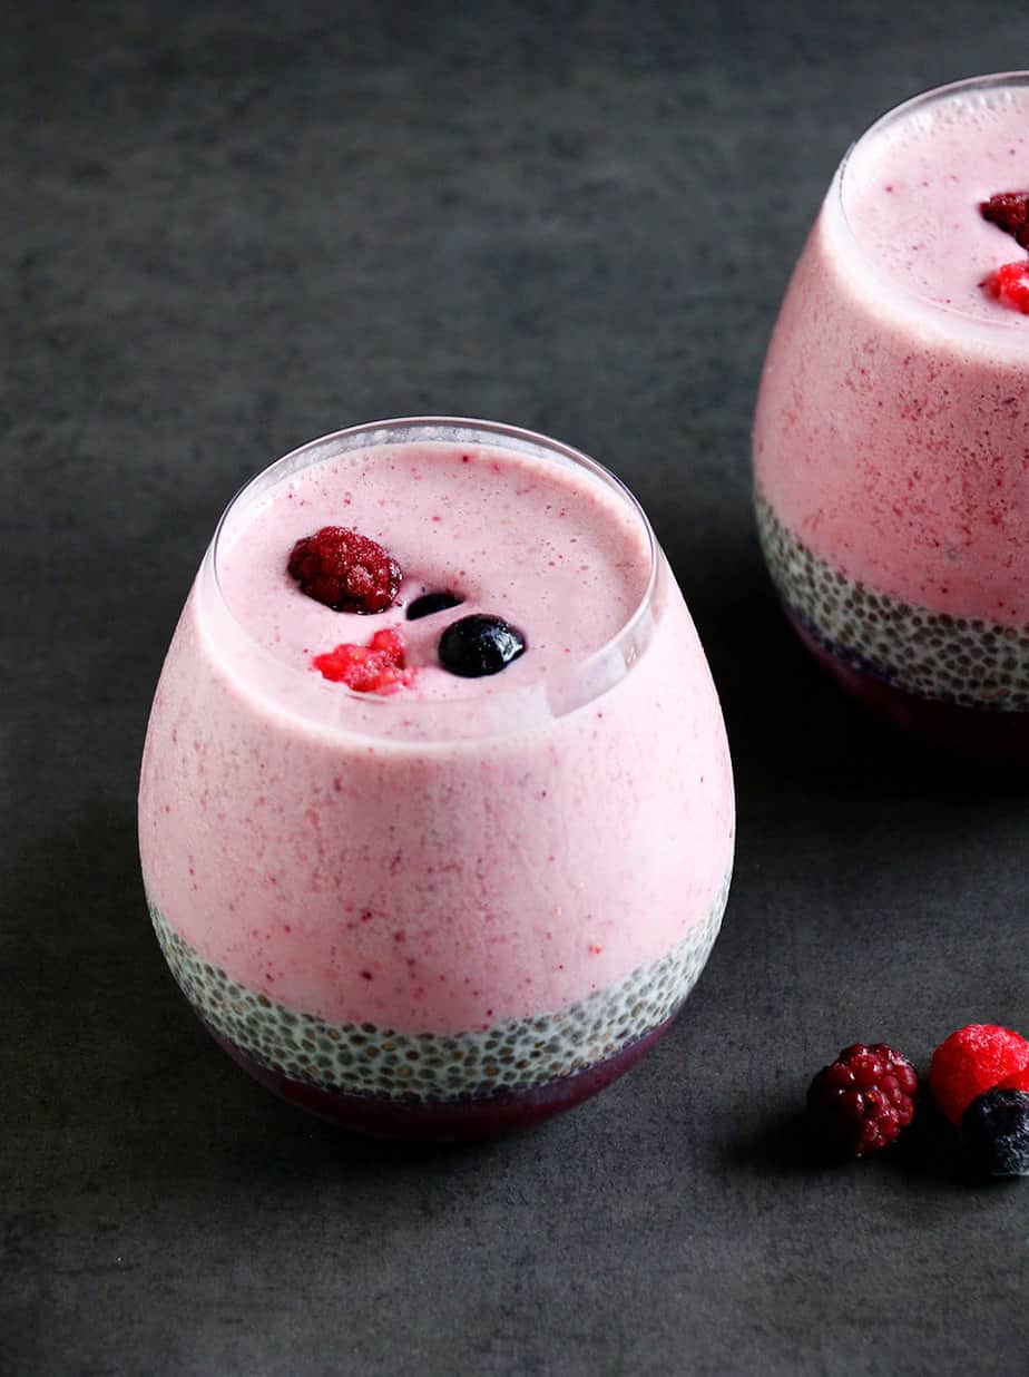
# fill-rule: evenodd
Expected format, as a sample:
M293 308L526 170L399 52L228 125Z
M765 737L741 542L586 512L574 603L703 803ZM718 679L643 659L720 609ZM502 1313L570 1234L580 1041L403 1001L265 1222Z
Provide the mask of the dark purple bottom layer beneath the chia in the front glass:
M666 1019L607 1060L563 1075L549 1085L465 1100L387 1100L312 1085L261 1066L210 1024L204 1026L237 1066L267 1089L340 1128L371 1137L458 1143L497 1137L572 1108L634 1066L664 1036L671 1022Z

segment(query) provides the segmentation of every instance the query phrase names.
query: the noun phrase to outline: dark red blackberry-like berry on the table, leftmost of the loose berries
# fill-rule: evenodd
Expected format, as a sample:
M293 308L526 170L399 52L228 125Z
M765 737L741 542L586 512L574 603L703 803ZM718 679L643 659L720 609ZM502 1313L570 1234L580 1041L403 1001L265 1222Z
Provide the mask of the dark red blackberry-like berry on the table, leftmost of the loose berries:
M885 1042L845 1047L808 1089L808 1118L846 1157L887 1147L915 1117L918 1074Z

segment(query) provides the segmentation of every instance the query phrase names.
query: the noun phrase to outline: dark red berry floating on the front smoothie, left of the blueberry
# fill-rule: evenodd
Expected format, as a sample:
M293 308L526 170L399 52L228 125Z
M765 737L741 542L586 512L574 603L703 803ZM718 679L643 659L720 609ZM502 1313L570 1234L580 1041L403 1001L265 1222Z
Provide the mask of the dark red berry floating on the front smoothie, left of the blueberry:
M381 545L344 526L322 526L299 540L288 569L301 592L334 611L384 611L403 578Z

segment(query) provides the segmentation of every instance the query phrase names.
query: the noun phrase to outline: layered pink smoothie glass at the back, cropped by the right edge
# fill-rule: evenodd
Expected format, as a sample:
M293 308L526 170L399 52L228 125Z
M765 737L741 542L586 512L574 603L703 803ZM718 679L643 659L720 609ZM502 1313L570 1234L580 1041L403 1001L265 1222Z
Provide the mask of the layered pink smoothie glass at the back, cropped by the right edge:
M765 559L893 722L1029 759L1029 74L919 95L830 187L754 428Z

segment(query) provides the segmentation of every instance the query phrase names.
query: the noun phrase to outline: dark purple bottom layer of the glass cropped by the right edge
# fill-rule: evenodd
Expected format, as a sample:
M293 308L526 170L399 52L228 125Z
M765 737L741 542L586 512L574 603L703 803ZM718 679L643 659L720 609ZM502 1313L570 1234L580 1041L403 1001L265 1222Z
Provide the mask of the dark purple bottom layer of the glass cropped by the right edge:
M823 669L876 716L957 755L995 764L1029 764L1029 712L959 708L938 698L922 698L849 664L788 609L787 617Z

